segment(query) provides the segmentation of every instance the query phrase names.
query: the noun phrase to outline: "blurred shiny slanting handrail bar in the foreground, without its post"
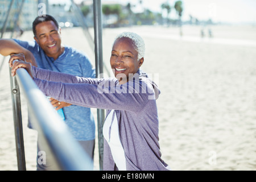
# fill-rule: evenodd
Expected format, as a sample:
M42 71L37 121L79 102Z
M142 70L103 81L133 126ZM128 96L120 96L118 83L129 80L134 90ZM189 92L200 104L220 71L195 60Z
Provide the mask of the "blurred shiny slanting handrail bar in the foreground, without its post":
M16 76L20 88L27 99L31 123L43 138L46 152L51 152L60 170L90 170L91 160L68 130L68 126L39 90L27 71L19 68Z

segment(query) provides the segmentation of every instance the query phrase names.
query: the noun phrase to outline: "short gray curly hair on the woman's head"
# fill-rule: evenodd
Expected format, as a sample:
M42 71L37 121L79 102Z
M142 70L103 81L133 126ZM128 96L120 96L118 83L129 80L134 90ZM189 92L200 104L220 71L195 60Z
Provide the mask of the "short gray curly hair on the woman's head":
M138 60L142 59L145 55L145 43L141 36L134 32L122 32L117 35L115 40L121 38L129 38L133 42L134 49L138 52ZM114 42L115 42L114 40Z

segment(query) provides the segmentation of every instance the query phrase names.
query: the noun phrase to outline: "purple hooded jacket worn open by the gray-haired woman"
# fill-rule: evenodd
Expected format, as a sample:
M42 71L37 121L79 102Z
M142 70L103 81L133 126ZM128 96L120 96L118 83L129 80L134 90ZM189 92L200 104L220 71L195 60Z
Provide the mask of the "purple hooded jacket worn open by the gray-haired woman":
M168 170L158 138L157 86L141 73L119 85L116 78L82 78L36 67L34 81L46 96L75 105L115 110L127 171ZM118 170L104 139L104 170Z

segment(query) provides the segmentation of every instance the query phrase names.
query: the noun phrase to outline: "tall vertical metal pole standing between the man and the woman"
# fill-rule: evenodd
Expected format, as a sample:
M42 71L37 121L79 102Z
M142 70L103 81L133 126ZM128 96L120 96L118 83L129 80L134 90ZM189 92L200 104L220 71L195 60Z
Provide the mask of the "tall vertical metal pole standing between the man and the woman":
M101 0L93 0L93 19L94 19L94 45L95 45L95 62L96 62L96 76L103 73L102 61L102 23L101 23ZM105 119L105 112L102 109L97 110L98 117L98 151L100 157L100 170L103 164L103 148L104 139L102 134L103 123Z

